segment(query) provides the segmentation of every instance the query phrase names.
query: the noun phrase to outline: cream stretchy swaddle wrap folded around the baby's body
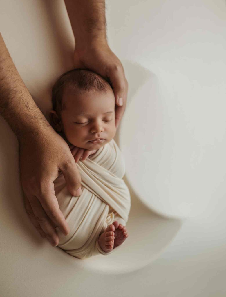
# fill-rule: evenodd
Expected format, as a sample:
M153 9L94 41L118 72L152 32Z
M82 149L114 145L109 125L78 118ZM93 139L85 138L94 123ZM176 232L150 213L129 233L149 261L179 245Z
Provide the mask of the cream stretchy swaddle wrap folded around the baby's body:
M53 182L59 208L69 225L67 236L56 228L58 247L83 259L93 255L108 255L98 244L98 237L108 225L118 221L126 225L131 207L130 193L122 177L125 162L112 139L85 161L78 161L82 194L72 196L63 174ZM124 244L124 243L123 243Z

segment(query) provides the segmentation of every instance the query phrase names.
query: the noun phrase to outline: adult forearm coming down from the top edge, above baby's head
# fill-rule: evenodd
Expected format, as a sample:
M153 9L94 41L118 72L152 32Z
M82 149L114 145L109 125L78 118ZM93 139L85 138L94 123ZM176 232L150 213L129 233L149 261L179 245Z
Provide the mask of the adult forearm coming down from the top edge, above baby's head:
M64 0L76 47L107 42L105 0Z

